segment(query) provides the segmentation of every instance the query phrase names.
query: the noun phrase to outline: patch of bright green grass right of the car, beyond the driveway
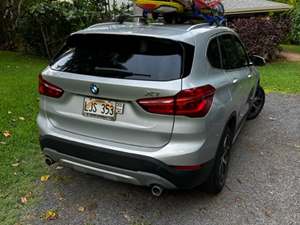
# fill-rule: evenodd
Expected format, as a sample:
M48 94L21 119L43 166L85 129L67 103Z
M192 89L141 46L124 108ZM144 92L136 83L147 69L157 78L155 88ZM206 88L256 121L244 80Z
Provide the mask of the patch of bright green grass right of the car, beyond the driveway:
M266 92L300 93L300 62L276 62L259 71Z

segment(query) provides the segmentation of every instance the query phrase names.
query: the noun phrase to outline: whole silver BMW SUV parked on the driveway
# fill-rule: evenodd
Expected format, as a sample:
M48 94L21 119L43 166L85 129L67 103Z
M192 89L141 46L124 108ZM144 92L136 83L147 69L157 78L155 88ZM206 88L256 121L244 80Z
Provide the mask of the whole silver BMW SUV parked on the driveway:
M218 193L230 149L263 108L237 34L207 24L104 23L76 32L39 76L46 163L115 181Z

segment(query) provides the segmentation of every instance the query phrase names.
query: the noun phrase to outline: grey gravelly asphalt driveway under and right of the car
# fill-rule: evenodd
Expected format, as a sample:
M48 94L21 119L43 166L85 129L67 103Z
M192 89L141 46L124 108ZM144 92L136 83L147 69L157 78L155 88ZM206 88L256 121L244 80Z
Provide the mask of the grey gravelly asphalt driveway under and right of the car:
M262 114L234 145L218 196L195 189L155 198L147 188L67 168L54 166L52 173L40 205L28 213L30 224L300 224L300 95L267 96ZM49 209L56 220L40 218Z

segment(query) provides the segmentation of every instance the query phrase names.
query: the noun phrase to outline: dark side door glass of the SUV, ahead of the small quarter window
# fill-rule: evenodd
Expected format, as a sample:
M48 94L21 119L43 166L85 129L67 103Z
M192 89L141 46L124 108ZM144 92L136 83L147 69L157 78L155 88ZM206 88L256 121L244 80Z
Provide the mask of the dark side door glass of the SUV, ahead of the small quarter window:
M247 53L240 40L231 34L220 36L224 69L237 69L248 65Z

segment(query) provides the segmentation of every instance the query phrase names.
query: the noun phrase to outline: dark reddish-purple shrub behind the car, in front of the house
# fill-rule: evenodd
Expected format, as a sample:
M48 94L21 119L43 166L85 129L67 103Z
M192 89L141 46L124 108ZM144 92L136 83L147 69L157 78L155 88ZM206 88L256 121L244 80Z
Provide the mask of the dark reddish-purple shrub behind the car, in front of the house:
M239 18L233 19L229 26L240 35L249 54L272 60L289 34L290 19L287 16Z

